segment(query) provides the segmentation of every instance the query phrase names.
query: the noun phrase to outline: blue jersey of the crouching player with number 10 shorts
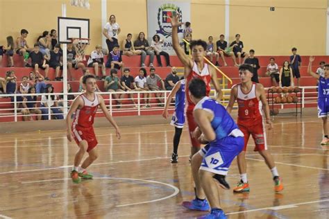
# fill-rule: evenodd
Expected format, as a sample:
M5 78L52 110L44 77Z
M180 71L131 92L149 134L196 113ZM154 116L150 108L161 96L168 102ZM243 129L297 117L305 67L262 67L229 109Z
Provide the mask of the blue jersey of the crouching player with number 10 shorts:
M203 109L206 112L210 112L214 115L214 118L210 123L214 132L216 133L216 139L210 143L210 146L215 146L221 141L221 139L228 136L244 136L230 114L228 114L223 105L218 103L216 100L205 96L194 107L194 110L196 109Z

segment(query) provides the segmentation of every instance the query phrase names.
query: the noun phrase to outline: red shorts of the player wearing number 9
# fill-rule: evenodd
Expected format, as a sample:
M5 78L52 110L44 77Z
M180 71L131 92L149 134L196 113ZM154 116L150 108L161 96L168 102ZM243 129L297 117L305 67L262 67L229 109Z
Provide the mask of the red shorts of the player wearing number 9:
M252 122L237 121L237 125L244 133L244 151L246 151L250 135L253 137L253 141L255 141L255 148L253 151L267 150L266 133L264 132L262 119Z

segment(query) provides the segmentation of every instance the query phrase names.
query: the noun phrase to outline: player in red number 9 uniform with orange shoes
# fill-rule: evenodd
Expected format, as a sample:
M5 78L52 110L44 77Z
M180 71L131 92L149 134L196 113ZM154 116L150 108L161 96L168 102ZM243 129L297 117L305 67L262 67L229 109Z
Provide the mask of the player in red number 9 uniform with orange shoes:
M237 165L239 167L240 182L233 191L235 193L248 192L249 184L246 177L246 146L250 135L255 141L254 151L258 151L265 160L265 163L271 170L274 180L274 191L282 191L283 185L274 164L273 157L267 150L266 133L263 124L262 109L264 109L265 121L269 128L273 128L269 116L269 105L264 87L251 81L253 77L253 67L248 64L242 64L239 67L239 76L242 80L240 84L234 85L230 92L230 101L227 111L232 111L235 100L237 100L238 114L237 125L244 133L244 150L237 156Z

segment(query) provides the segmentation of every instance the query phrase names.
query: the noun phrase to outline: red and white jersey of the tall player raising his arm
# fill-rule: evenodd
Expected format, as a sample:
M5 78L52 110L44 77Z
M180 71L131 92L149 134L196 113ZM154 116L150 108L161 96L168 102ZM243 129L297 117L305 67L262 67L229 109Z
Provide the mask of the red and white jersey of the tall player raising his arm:
M200 78L205 82L205 86L206 86L205 95L209 96L210 89L211 89L211 86L210 86L211 75L210 75L210 72L208 69L208 64L205 63L202 71L199 71L198 66L194 62L191 73L189 73L189 76L187 76L187 78L185 79L185 85L186 85L185 86L185 95L186 95L186 100L187 100L187 111L193 111L194 106L195 106L195 104L192 102L192 100L189 99L189 82L193 78Z

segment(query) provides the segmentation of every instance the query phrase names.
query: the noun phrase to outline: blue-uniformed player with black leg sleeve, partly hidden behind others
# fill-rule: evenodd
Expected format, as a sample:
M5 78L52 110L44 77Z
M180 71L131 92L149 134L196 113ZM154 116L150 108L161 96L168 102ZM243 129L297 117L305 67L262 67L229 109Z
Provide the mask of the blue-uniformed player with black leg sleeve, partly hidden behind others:
M171 155L171 163L178 162L178 145L180 141L180 135L183 131L183 126L185 123L185 79L179 80L172 91L170 92L165 109L162 112L162 116L167 119L168 118L168 107L171 103L171 98L175 96L175 112L171 119L171 125L175 126L175 134L174 134L174 150Z

